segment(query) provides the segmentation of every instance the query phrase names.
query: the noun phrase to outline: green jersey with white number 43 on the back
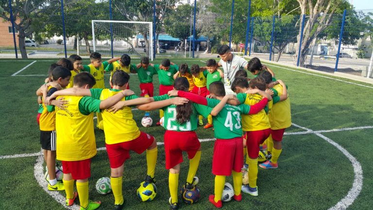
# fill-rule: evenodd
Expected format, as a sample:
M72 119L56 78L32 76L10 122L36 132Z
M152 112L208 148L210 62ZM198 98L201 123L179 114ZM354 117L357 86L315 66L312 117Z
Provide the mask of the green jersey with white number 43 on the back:
M218 99L207 99L207 106L215 107L220 103ZM210 108L211 109L211 108ZM202 111L198 109L198 111ZM242 136L241 114L249 114L250 106L226 104L217 116L212 117L214 135L217 139L233 139ZM211 111L210 111L211 112Z

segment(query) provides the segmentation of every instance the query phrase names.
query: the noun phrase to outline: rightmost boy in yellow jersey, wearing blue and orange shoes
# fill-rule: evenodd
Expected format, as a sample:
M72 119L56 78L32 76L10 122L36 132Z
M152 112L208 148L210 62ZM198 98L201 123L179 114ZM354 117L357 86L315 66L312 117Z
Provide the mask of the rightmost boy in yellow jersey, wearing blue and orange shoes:
M266 82L266 87L272 82L272 75L268 71L264 71L259 74ZM290 111L290 99L285 97L287 94L287 89L285 84L284 86L275 83L273 86L273 91L277 92L277 95L283 101L278 101L277 103L273 102L271 111L269 112L269 119L271 123L271 139L273 140L273 148L271 144L271 139L268 140L268 151L271 151L271 159L266 162L259 164L261 168L275 169L278 167L278 157L280 157L282 151L282 137L284 135L285 129L291 126L291 111Z

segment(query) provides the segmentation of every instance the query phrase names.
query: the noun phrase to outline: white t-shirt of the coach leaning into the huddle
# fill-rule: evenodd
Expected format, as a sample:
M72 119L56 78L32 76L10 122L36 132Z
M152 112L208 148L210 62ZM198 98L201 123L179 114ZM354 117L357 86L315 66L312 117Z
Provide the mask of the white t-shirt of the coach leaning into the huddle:
M225 90L229 89L231 90L232 82L235 80L235 75L237 71L242 68L244 69L247 65L247 61L239 57L237 55L232 54L232 61L224 62L222 59L220 59L221 67L224 70L224 88ZM231 92L233 92L231 90ZM227 93L228 94L228 93Z

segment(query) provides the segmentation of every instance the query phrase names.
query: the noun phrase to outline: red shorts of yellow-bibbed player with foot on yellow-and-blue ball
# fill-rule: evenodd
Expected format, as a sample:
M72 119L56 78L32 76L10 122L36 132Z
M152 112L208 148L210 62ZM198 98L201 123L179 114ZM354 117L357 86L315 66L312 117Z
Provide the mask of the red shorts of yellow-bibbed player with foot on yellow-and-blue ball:
M137 154L143 153L146 149L152 145L154 137L140 132L140 136L134 140L125 141L116 144L106 144L107 156L109 156L109 162L111 168L120 167L126 159L130 158L130 150Z

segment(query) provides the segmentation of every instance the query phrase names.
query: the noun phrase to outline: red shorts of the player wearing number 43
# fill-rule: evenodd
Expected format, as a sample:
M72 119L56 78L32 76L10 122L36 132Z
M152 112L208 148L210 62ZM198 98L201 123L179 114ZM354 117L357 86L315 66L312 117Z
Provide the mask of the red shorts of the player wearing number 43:
M212 157L212 174L229 176L232 170L241 172L243 165L242 137L217 139Z

